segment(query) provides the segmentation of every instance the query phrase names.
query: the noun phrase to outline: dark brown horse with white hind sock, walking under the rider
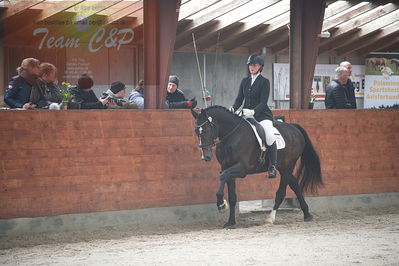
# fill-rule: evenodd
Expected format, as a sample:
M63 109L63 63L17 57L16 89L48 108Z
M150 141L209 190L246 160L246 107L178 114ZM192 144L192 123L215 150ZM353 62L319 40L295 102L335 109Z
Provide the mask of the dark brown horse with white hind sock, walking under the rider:
M192 110L196 120L195 132L199 139L202 159L212 159L212 148L216 145L216 157L221 166L220 186L216 193L219 211L229 208L230 216L224 227L234 227L236 196L236 178L244 178L248 174L265 172L268 169L268 159L261 158L261 149L251 126L242 117L230 112L222 106L211 106L197 113ZM268 218L273 223L278 207L282 203L287 185L295 192L305 221L312 220L309 207L303 197L303 192L310 189L316 192L323 184L320 160L306 131L297 124L274 122L274 126L283 136L286 147L278 150L278 171L280 186L276 192L273 211ZM216 140L219 142L216 143ZM298 176L293 175L297 160L301 158ZM299 183L298 183L299 181ZM223 199L224 186L227 184L228 204Z

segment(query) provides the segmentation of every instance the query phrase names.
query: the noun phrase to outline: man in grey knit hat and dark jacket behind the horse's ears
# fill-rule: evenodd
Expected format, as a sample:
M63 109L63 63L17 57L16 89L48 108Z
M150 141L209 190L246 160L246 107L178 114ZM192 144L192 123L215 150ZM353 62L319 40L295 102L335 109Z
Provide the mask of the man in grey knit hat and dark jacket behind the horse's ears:
M184 93L178 89L179 78L175 75L169 76L169 83L166 93L166 106L169 109L193 109L197 106L195 98L187 100Z

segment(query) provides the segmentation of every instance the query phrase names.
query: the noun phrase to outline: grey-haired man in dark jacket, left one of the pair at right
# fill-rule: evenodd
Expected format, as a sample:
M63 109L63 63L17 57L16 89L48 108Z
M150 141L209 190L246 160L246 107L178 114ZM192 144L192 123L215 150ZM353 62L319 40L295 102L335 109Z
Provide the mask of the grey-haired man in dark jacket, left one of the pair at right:
M337 67L335 69L336 78L333 79L326 88L326 109L352 109L349 100L346 82L349 78L348 69L345 67Z

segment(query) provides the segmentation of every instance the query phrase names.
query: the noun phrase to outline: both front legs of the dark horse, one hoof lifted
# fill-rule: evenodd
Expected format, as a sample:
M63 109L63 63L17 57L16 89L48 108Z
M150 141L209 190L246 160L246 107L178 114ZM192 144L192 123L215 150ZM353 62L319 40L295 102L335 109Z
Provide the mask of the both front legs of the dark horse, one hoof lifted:
M227 211L229 206L227 205L226 200L223 199L224 195L224 185L227 183L228 186L228 200L230 204L230 216L228 222L224 225L224 227L231 227L235 225L235 206L237 203L237 196L235 191L235 180L234 178L240 177L243 178L246 176L246 171L244 167L240 163L237 163L222 172L220 175L220 185L219 189L216 192L217 199L217 207L220 212Z

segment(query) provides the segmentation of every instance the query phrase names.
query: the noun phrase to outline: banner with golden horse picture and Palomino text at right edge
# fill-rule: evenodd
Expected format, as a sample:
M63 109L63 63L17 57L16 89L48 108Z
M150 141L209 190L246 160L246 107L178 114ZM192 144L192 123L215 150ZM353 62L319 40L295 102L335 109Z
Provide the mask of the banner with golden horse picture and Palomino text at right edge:
M399 54L369 54L366 57L364 108L394 104L399 104Z

